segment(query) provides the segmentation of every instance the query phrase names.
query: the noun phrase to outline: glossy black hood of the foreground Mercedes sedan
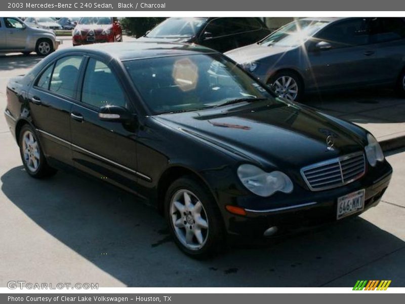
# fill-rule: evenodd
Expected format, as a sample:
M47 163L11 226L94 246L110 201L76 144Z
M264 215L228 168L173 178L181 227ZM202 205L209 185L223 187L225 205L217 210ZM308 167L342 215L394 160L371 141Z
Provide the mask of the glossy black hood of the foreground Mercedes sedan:
M263 167L301 168L354 151L365 140L312 108L295 103L256 101L238 106L170 113L159 122L208 141ZM326 139L333 136L333 149Z

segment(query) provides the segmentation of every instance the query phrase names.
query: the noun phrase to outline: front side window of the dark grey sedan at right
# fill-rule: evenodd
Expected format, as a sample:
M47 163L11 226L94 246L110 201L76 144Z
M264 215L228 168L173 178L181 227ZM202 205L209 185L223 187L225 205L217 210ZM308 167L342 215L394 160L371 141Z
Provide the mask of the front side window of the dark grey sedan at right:
M322 30L316 38L329 42L334 48L365 45L369 43L369 28L366 18L349 19Z

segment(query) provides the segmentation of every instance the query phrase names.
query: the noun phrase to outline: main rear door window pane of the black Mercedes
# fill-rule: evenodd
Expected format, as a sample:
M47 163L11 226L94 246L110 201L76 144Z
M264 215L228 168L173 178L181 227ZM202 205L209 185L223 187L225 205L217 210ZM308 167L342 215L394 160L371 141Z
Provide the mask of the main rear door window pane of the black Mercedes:
M76 83L82 56L67 56L56 62L49 90L67 97L76 95Z

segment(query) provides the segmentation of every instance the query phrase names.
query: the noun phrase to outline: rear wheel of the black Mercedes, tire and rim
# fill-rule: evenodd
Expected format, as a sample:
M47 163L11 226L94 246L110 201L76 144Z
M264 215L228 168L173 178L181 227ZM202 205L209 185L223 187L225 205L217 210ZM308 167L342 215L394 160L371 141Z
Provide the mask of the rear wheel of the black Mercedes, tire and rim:
M30 176L34 178L47 178L56 174L57 170L48 165L41 145L31 126L24 125L21 128L18 143L22 163L25 171Z

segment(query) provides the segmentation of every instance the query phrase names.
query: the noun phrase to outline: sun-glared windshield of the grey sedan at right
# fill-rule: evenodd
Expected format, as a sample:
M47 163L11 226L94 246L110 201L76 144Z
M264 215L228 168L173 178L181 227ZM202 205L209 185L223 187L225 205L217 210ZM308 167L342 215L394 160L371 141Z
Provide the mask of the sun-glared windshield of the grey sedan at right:
M264 46L296 47L307 41L327 21L297 20L273 32L261 42Z

